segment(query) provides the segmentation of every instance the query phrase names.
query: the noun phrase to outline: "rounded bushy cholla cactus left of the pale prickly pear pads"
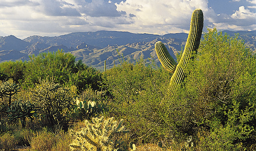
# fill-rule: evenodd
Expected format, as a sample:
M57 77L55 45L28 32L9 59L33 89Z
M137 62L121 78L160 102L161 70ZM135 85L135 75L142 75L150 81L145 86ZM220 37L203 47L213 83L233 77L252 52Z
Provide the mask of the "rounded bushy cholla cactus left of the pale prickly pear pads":
M34 104L38 116L45 118L49 126L63 125L65 118L71 110L74 98L70 88L61 87L54 79L40 80L33 90Z

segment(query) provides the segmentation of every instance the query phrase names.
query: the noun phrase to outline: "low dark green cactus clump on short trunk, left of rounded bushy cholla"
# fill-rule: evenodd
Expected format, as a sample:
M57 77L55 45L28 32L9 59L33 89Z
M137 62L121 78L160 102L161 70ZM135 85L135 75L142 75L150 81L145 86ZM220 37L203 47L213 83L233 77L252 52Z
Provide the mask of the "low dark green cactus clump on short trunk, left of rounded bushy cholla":
M23 102L22 100L15 101L8 108L8 118L11 121L21 119L22 128L26 125L26 118L33 120L34 115L36 116L37 109L30 102Z

